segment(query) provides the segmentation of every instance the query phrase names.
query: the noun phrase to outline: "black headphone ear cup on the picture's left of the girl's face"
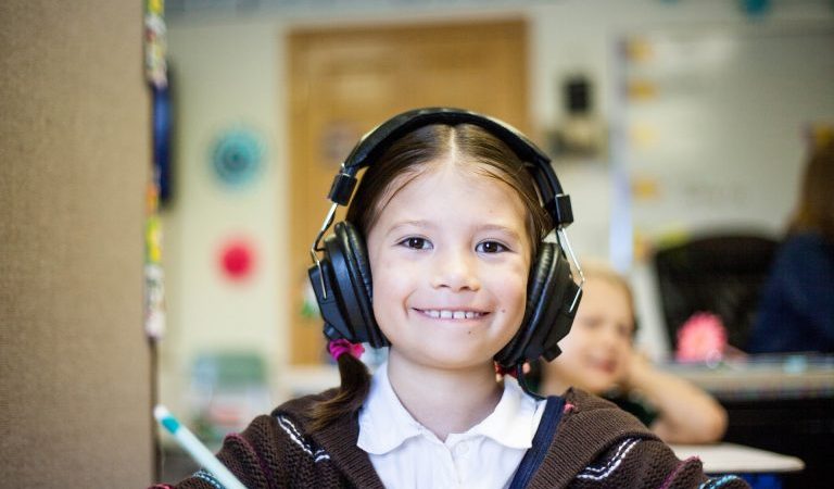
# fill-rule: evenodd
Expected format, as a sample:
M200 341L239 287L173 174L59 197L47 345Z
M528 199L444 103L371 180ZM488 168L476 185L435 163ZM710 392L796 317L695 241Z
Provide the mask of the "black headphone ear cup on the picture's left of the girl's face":
M352 342L369 342L374 348L388 344L374 316L372 281L365 239L353 224L337 223L332 239L325 248L336 277L337 294L341 299L348 324L354 331Z

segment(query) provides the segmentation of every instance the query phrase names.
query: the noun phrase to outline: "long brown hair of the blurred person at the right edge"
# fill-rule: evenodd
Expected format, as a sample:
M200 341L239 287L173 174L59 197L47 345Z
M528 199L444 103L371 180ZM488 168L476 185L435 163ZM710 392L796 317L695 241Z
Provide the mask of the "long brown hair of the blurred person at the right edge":
M799 205L788 234L816 230L834 244L834 140L811 154L801 185Z

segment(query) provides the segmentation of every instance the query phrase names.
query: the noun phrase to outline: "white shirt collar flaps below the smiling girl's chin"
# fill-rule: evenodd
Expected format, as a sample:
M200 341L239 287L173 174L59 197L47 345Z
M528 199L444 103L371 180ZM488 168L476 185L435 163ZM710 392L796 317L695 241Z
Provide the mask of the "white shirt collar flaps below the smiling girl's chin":
M543 402L525 393L515 378L506 376L504 392L492 414L468 431L452 434L450 438L483 436L508 448L528 449L532 447L543 405ZM384 454L409 438L430 432L400 402L388 378L388 363L380 365L359 411L359 438L356 444L368 453Z

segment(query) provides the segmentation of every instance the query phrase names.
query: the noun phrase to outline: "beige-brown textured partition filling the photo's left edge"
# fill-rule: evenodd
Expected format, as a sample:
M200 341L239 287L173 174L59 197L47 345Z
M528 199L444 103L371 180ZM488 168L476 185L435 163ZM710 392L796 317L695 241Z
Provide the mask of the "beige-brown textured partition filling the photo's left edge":
M0 3L3 487L151 481L142 3Z

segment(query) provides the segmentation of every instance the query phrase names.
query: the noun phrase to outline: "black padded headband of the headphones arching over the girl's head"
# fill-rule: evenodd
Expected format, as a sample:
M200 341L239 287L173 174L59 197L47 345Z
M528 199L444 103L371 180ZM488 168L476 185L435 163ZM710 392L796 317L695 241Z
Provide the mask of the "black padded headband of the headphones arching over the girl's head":
M348 205L356 186L356 174L369 166L404 135L432 124L456 126L472 124L501 139L525 162L525 167L539 188L544 209L554 226L567 227L573 222L570 198L563 193L561 184L551 167L551 159L513 126L486 115L453 108L415 109L395 115L371 129L354 147L333 179L328 198L338 205Z

